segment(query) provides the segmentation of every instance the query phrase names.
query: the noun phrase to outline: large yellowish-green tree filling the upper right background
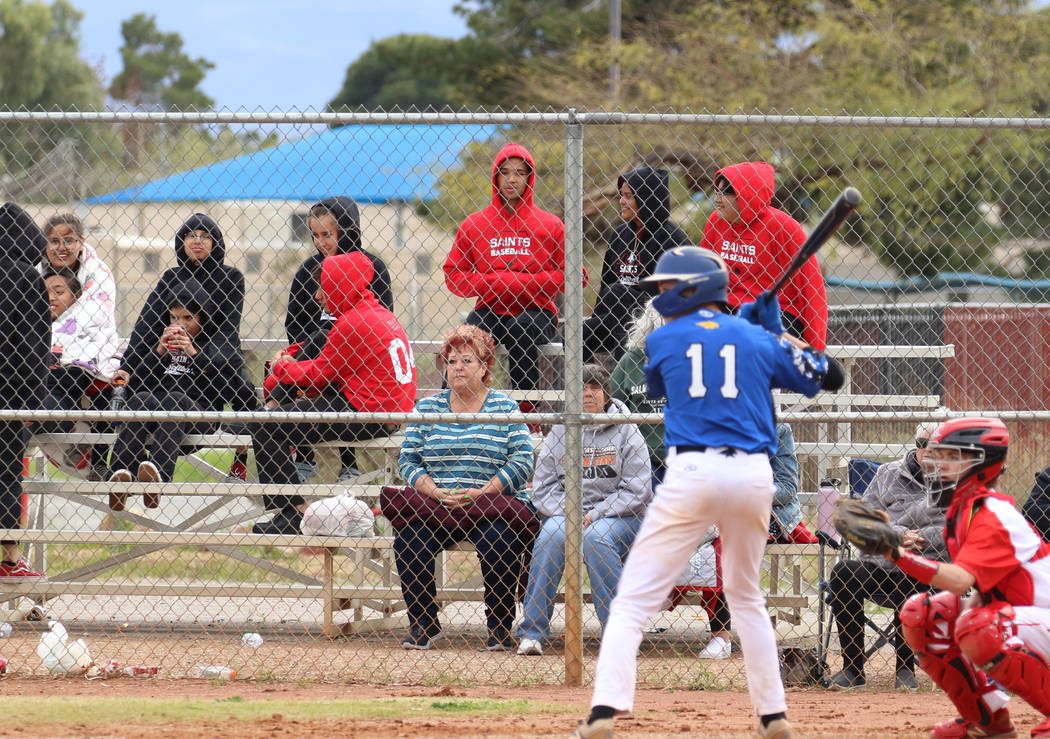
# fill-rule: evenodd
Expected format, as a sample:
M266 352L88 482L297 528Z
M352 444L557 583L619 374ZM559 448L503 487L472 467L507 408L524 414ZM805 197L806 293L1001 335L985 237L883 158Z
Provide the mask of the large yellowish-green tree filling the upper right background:
M551 39L568 31L545 33L556 14L584 13L581 3L475 5L476 33L498 39L497 30L507 34L514 21L523 29L524 40L506 37L525 51L514 62L523 100L539 107L565 101L582 109L609 106L608 40L591 30L575 44L555 43ZM1040 75L1050 63L1050 10L1028 2L828 0L820 14L807 3L768 0L654 6L658 13L642 20L625 13L617 107L952 115L1030 115L1048 107ZM532 33L533 23L544 33ZM512 135L529 140L527 129ZM863 240L904 274L928 275L1002 269L992 250L1017 234L1009 219L1009 228L996 227L988 206L1008 205L1002 198L1014 178L1031 181L1044 171L1042 156L1036 168L1004 171L1003 152L1018 135L904 127L864 135L817 127L605 127L588 130L586 162L594 188L611 200L615 173L657 152L686 152L677 169L689 170L691 189L708 187L719 164L764 159L777 168L774 203L801 219L853 184L866 202L843 236Z

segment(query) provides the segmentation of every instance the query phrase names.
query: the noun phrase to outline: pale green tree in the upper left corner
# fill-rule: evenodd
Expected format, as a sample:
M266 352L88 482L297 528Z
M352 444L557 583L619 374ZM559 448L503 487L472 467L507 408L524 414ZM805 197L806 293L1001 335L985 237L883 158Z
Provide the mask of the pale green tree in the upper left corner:
M0 106L98 110L103 88L80 59L83 14L68 0L0 0ZM105 134L67 123L7 123L0 128L4 194L69 197L77 173L94 161Z

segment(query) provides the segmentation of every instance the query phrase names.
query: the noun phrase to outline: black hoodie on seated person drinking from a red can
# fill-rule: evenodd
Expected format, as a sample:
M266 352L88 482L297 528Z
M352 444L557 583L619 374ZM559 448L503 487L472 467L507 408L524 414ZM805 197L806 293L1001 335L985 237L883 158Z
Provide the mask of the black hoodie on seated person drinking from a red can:
M229 378L240 372L243 355L239 349L230 354L226 338L216 334L216 323L212 320L215 301L200 282L188 278L171 284L167 309L175 303L195 313L201 320L201 332L192 338L197 353L190 357L182 353L149 352L129 384L135 392L177 390L193 398L205 409L222 410L224 403L233 402ZM160 340L161 333L158 333L153 346Z

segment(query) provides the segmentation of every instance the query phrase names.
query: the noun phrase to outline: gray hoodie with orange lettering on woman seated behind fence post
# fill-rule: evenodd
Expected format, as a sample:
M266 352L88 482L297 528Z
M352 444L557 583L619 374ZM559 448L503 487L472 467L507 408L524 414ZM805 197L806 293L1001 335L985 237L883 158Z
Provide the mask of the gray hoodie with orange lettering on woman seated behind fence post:
M610 414L626 414L615 398ZM584 426L583 512L593 520L640 515L652 499L652 467L642 431L633 423ZM547 435L532 477L532 505L543 518L565 514L565 426Z

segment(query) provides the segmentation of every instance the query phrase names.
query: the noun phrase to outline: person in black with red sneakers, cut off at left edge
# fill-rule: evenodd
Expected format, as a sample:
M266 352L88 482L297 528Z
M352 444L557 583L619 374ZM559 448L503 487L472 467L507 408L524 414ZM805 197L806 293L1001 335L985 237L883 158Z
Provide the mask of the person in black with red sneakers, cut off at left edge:
M47 239L14 203L0 206L0 408L39 408L44 397L50 344L50 310L36 269ZM21 421L0 421L0 529L21 528ZM2 540L0 583L41 579L21 556L18 542Z

